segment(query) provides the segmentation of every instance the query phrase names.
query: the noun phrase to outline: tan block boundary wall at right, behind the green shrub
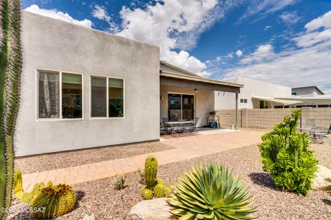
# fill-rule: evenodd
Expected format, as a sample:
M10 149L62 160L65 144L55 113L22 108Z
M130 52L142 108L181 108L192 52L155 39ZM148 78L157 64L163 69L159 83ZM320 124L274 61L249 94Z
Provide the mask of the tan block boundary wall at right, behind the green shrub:
M285 115L290 115L293 109L239 109L238 125L242 128L272 129L274 124L283 120ZM221 126L228 127L235 124L235 110L216 110L220 115ZM331 108L304 107L301 109L302 117L299 126L305 126L308 118L314 118L316 126L328 128L331 124Z

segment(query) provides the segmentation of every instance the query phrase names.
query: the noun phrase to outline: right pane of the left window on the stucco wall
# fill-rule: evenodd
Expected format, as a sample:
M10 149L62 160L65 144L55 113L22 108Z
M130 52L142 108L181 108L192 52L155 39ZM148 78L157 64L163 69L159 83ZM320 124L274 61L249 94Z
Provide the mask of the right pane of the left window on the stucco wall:
M82 118L82 84L80 74L62 74L62 117Z

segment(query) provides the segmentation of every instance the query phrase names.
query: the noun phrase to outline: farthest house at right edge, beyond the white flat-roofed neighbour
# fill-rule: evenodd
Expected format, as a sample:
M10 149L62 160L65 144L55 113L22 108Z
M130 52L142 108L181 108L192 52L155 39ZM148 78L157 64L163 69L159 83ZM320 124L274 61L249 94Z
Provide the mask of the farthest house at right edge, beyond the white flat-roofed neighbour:
M294 101L301 101L298 104L292 104L291 107L314 107L314 108L325 108L331 107L331 94L325 95L321 89L317 86L306 86L306 87L295 87L292 88L292 97L282 97L278 98L290 99Z

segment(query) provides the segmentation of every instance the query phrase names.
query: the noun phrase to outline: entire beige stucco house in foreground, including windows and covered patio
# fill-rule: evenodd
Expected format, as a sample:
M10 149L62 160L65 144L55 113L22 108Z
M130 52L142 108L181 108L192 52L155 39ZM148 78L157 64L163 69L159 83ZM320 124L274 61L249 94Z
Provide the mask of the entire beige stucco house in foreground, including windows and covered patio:
M159 140L161 118L203 125L214 91L243 87L160 63L154 45L22 14L17 156Z

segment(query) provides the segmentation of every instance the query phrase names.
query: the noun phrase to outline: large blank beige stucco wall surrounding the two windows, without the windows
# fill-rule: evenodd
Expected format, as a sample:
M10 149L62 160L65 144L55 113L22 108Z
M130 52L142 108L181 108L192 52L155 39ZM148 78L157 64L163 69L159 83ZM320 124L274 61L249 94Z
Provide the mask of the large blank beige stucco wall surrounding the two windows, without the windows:
M23 12L16 155L159 139L159 47ZM37 120L36 68L83 74L83 119ZM90 74L125 79L125 118L90 119Z

